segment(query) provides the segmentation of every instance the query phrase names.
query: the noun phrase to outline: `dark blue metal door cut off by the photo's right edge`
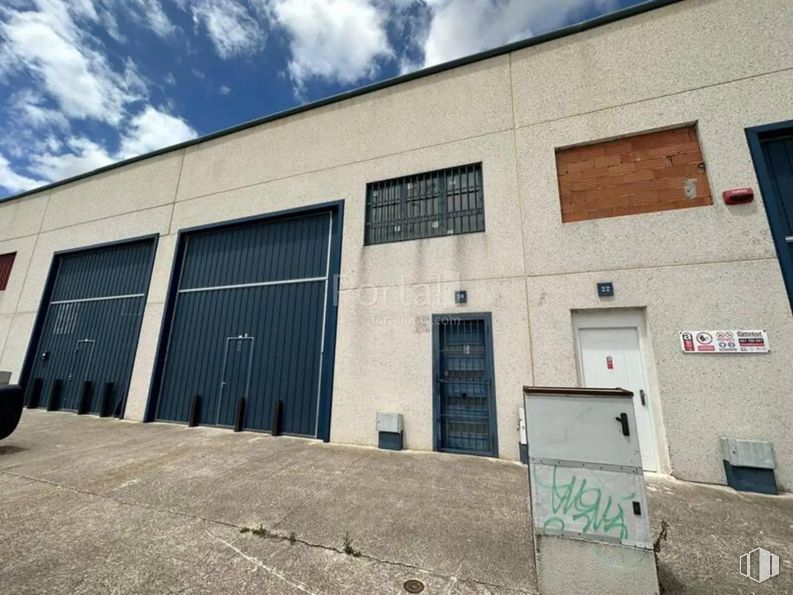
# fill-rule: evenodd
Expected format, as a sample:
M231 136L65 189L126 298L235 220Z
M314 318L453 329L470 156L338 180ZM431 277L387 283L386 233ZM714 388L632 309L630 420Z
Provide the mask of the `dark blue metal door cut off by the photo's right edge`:
M793 307L793 126L770 130L754 138L750 135L750 142L771 233Z

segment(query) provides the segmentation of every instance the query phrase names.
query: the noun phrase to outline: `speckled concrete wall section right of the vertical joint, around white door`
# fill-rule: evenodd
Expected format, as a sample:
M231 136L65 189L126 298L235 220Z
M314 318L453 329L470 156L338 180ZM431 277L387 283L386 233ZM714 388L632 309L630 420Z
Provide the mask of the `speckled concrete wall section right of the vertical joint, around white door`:
M577 381L571 310L644 309L659 447L685 479L723 482L719 438L736 436L774 442L778 480L793 488L793 404L778 398L793 380L790 303L762 201L721 200L758 188L744 129L793 118L791 27L783 1L683 2L513 56L535 381ZM552 76L560 64L566 75ZM562 223L552 147L686 123L712 206ZM595 295L605 280L608 304ZM700 328L769 329L772 353L683 354L677 332Z

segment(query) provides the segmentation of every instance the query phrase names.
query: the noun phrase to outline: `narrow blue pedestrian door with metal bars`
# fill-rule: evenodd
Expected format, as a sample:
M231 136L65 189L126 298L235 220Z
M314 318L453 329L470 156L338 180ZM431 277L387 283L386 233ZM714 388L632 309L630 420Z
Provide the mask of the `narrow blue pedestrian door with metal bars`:
M435 316L435 448L498 456L490 315Z

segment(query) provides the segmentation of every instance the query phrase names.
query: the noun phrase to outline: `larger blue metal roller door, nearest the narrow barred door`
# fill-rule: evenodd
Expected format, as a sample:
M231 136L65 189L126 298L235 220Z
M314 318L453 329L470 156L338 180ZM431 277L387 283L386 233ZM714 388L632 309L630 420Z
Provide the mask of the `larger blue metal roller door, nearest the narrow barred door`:
M156 419L318 435L333 217L185 234Z

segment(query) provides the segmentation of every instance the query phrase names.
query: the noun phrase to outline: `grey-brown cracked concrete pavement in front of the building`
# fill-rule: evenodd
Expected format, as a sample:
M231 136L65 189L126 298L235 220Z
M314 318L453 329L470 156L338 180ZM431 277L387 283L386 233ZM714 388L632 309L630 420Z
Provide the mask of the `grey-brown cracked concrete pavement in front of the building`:
M0 585L534 593L527 492L526 468L504 461L25 411L0 442ZM666 478L649 495L654 525L670 523L668 592L793 591L793 498ZM755 546L783 558L760 586L737 572Z

